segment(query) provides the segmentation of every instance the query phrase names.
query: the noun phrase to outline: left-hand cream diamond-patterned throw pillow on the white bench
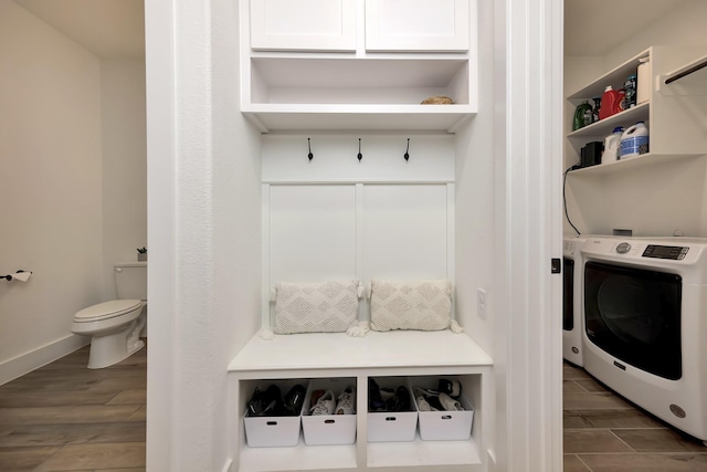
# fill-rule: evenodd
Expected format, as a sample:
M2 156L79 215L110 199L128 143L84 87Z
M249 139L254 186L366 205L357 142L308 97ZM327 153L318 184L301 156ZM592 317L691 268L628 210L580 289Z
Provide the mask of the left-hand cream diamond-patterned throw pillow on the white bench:
M341 333L356 325L358 282L275 285L275 334Z

